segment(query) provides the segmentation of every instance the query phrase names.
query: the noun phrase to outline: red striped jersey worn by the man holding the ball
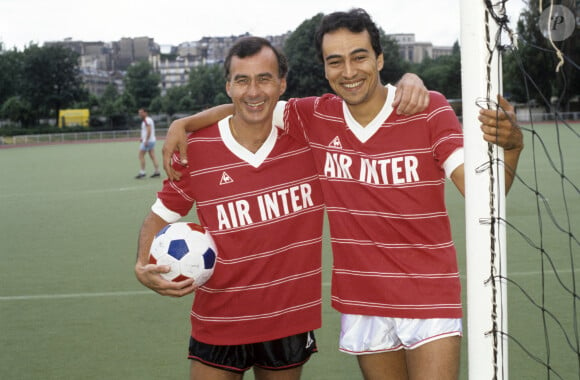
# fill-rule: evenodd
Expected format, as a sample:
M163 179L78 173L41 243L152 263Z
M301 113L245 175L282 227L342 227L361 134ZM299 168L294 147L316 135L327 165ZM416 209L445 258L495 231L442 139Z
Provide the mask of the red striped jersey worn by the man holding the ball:
M319 328L324 204L309 147L272 128L253 154L224 119L189 135L187 154L189 175L165 181L153 211L175 221L195 204L218 248L192 336L233 345Z

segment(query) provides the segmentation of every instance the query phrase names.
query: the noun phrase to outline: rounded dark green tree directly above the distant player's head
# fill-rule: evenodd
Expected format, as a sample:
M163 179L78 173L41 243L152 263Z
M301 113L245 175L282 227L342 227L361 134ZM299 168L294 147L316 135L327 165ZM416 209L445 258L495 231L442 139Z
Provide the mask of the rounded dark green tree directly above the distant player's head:
M133 98L137 107L147 108L151 105L151 101L161 93L160 80L159 74L153 71L149 62L135 62L127 69L125 92Z

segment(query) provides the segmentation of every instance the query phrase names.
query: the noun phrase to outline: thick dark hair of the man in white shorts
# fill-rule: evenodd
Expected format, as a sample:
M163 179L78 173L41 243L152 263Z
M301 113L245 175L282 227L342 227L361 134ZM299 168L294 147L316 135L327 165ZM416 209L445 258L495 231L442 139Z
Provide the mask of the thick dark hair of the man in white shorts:
M335 30L346 28L353 33L362 33L367 31L371 38L371 46L378 56L383 53L381 47L381 34L379 28L371 19L371 16L362 8L353 8L348 12L334 12L322 18L314 42L316 44L316 51L318 57L324 62L322 55L322 38L325 34L334 32Z

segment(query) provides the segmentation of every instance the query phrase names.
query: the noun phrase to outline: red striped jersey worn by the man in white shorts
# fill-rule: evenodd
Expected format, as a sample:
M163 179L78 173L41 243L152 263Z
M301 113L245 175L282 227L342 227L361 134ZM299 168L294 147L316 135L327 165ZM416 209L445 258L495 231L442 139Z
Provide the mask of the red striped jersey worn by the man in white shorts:
M334 95L292 99L285 108L285 129L308 140L321 178L334 254L332 305L348 314L459 318L443 163L462 152L461 125L439 93L412 116L392 112L394 93L390 87L365 127Z

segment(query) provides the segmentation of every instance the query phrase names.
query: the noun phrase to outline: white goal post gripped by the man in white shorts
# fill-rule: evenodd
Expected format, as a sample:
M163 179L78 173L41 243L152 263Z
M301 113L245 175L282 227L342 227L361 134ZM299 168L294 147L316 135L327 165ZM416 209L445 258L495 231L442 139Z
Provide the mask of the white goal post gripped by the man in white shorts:
M505 281L505 191L503 151L488 144L477 120L478 99L495 104L501 93L497 51L490 58L498 26L487 18L485 0L460 0L461 80L465 146L467 343L470 380L508 379ZM499 72L498 72L499 71ZM488 87L490 86L491 87ZM484 103L486 105L487 103ZM491 164L491 165L490 165ZM491 182L491 179L494 181ZM498 185L499 184L499 185ZM495 210L493 213L490 210ZM495 216L493 215L495 214ZM495 230L492 238L492 227ZM494 301L495 300L495 301ZM495 333L494 333L495 331ZM503 333L502 333L503 332Z

